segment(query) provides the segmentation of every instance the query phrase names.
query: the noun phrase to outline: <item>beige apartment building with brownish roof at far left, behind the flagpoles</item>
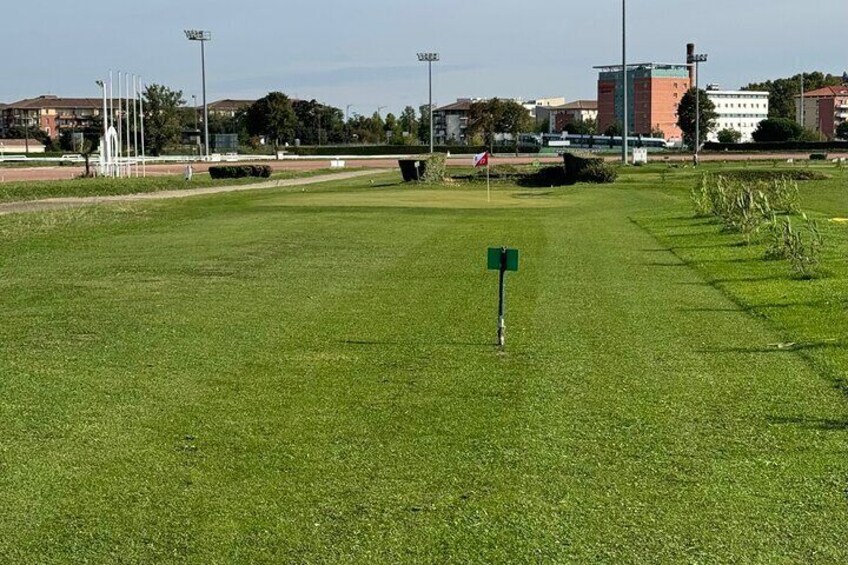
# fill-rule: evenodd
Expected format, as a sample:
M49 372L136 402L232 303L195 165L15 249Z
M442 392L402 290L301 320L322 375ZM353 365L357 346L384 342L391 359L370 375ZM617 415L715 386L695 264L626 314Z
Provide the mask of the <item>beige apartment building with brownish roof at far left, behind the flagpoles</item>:
M62 130L79 131L91 125L94 118L103 112L103 99L42 95L13 102L2 112L4 127L37 127L56 139Z

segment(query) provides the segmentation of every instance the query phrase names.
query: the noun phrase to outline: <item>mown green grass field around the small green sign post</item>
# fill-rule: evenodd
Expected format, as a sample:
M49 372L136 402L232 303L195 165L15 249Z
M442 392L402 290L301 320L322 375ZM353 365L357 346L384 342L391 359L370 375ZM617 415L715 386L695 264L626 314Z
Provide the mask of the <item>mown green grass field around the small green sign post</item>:
M0 562L845 563L845 177L804 281L662 170L0 218Z

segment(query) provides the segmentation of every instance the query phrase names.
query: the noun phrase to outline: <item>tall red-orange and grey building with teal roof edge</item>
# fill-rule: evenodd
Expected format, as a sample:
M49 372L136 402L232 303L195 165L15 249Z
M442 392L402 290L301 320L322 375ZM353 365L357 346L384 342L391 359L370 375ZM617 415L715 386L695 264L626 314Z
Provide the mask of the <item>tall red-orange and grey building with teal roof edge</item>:
M624 123L622 68L596 67L598 75L598 131ZM627 69L628 131L649 135L662 131L668 140L680 140L677 107L694 82L689 65L639 63Z

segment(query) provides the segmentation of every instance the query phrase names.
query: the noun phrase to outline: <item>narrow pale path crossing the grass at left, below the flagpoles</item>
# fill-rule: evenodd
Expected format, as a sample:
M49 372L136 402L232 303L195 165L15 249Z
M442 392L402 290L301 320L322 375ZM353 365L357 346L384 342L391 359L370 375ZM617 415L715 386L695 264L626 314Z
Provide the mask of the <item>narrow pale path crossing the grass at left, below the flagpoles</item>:
M0 204L0 216L6 214L17 214L21 212L42 212L45 210L56 210L62 208L76 208L80 206L93 206L96 204L108 204L114 202L138 202L143 200L167 200L172 198L188 198L190 196L203 196L208 194L220 194L224 192L242 192L245 190L261 190L267 188L282 188L290 186L305 186L327 181L345 180L357 177L375 175L388 172L388 169L369 169L365 171L350 171L347 173L335 173L329 175L318 175L299 179L275 180L259 182L256 184L243 184L236 186L212 186L207 188L193 188L189 190L163 190L159 192L143 192L137 194L119 194L114 196L87 196L58 198L45 198L43 200L32 200L28 202L6 202Z

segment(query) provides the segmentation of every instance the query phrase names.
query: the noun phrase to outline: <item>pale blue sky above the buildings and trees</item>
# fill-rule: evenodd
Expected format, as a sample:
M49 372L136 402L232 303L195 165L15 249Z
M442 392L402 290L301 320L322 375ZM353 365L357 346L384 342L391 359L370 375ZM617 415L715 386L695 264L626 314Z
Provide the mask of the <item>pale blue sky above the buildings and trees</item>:
M146 0L13 2L3 7L0 102L97 96L109 69L200 98L199 46L213 32L211 100L282 90L371 114L426 101L415 54L441 52L435 99L595 98L592 66L621 59L621 0ZM704 82L735 88L802 67L848 69L848 0L629 0L629 60L710 55ZM384 111L384 112L385 112Z

